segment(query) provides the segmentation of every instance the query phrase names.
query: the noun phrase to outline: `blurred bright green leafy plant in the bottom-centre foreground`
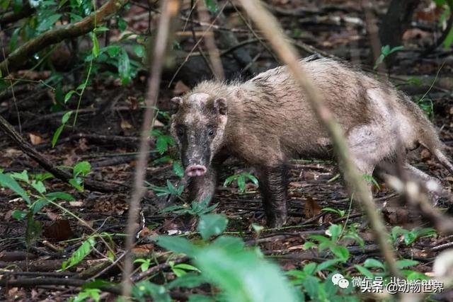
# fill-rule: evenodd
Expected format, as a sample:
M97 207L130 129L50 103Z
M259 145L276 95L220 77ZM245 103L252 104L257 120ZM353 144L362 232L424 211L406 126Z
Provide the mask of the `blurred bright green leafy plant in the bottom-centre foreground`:
M171 301L169 289L210 283L221 292L212 297L191 295L189 301L300 301L280 269L264 260L257 248L246 248L240 238L219 236L226 223L222 215L201 216L198 231L202 242L197 245L180 237L156 237L154 240L162 248L188 255L199 271L183 274L164 285L142 281L134 286L134 298L145 301L150 296L154 301ZM210 241L212 236L219 237Z

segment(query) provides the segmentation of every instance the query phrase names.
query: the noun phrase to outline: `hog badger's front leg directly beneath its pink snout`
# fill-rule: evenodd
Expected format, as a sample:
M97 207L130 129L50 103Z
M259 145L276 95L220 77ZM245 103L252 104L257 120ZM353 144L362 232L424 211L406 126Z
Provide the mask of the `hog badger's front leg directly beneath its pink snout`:
M202 202L214 197L217 187L217 167L207 167L205 175L189 179L189 199L188 202Z

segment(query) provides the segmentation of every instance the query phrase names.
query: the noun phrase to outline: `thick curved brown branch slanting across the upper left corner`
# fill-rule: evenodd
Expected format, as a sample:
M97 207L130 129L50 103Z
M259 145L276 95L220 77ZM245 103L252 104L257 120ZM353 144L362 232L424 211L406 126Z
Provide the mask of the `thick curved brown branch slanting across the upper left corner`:
M8 74L8 69L9 71L18 69L18 67L22 66L24 62L27 62L28 58L30 58L33 54L43 50L49 45L61 42L65 39L79 37L80 35L91 32L96 25L108 20L110 16L119 11L122 6L127 4L127 1L128 0L109 0L101 6L98 11L92 13L90 16L87 16L81 21L62 25L26 42L24 45L11 52L6 59L0 62L1 74L5 76Z

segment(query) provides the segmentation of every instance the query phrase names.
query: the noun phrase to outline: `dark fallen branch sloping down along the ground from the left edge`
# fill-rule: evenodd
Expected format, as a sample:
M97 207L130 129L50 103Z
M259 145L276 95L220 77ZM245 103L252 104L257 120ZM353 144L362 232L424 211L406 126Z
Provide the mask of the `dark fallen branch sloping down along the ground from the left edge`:
M18 134L18 132L16 132L16 129L14 129L14 127L10 123L8 123L8 121L5 120L1 115L0 129L4 132L4 134L6 134L7 137L14 141L25 154L30 156L30 158L36 161L42 168L52 173L56 178L59 178L64 182L67 182L72 178L71 173L60 170L51 161L45 158L45 156L36 151L36 149L33 148L33 146L29 144L28 141L25 141L25 139L21 137L21 134ZM98 192L119 192L127 189L127 187L123 185L112 185L108 182L98 182L96 180L90 180L87 178L84 180L84 185L86 189Z

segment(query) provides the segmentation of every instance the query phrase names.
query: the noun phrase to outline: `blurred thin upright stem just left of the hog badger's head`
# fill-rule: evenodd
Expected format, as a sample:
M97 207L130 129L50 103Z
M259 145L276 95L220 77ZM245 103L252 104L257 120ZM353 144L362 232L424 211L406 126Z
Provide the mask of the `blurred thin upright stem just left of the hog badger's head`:
M154 108L156 107L157 98L159 96L159 86L161 83L162 65L166 57L168 47L168 37L171 35L171 23L178 15L180 2L178 0L162 1L161 3L161 18L159 18L159 28L157 30L156 42L154 45L154 57L151 63L151 76L148 81L148 92L146 97L147 109L144 112L142 136L139 146L139 155L137 156L137 170L135 171L134 188L132 197L129 202L129 215L127 216L127 230L125 240L125 257L124 272L122 274L122 296L130 297L132 272L132 255L129 251L134 244L134 233L136 221L139 213L139 204L144 194L144 176L147 169L149 157L148 137L151 129L154 126Z

